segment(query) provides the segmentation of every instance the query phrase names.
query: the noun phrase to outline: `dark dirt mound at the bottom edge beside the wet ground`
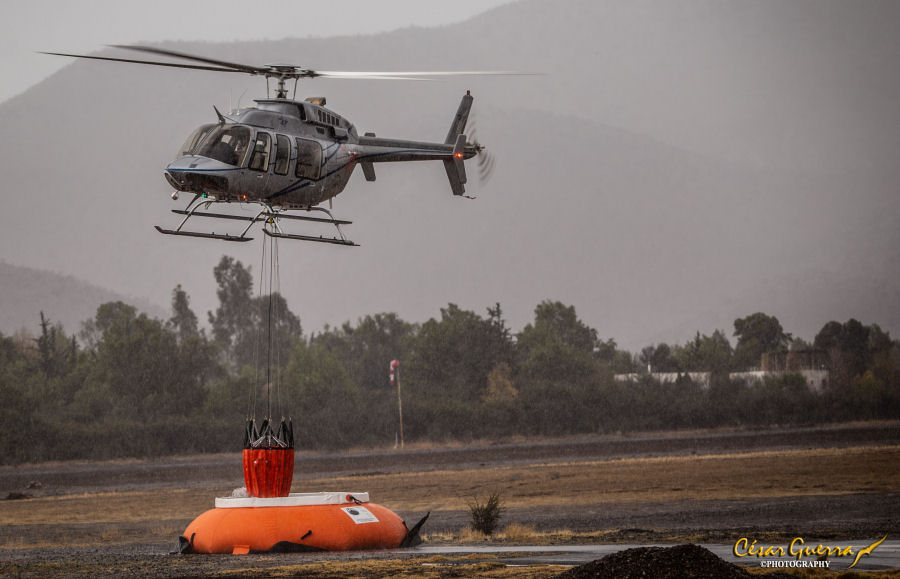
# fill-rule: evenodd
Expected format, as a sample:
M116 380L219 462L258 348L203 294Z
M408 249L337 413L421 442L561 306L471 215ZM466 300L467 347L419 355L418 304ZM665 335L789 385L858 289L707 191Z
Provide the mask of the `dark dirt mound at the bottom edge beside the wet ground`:
M668 579L697 577L710 579L744 579L752 577L744 569L723 561L698 545L674 547L640 547L627 549L602 559L569 569L558 579L594 579L616 577L629 579Z

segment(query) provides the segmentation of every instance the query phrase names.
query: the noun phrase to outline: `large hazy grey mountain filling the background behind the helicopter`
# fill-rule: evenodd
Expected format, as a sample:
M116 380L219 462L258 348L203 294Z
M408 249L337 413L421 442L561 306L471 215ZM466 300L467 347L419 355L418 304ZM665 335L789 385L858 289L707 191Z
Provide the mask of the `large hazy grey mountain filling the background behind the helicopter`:
M443 139L471 89L498 165L476 201L452 198L440 164L354 175L334 211L362 247L282 243L281 289L307 331L498 301L518 329L558 299L639 349L755 311L808 339L849 317L900 333L898 15L874 0L529 0L436 29L166 47L547 72L302 83L360 132L423 140ZM213 104L263 94L258 78L78 61L0 105L0 258L155 303L181 283L203 319L221 255L258 274L261 248L157 234L186 202L162 169Z

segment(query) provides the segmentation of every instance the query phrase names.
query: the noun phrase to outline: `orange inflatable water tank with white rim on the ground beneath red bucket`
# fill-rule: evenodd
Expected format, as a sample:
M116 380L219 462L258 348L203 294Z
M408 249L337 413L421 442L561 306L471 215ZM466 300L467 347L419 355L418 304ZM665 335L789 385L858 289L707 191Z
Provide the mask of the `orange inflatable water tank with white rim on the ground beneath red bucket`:
M220 498L188 525L182 553L347 551L408 546L404 521L368 493L292 493ZM405 544L406 543L406 544Z

